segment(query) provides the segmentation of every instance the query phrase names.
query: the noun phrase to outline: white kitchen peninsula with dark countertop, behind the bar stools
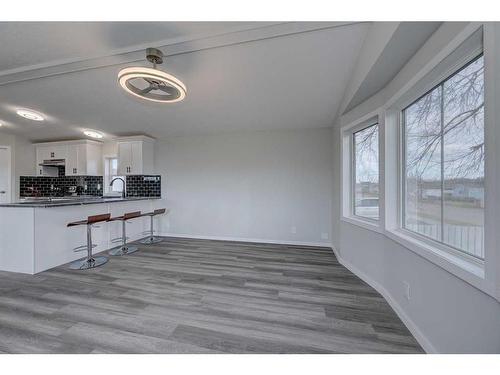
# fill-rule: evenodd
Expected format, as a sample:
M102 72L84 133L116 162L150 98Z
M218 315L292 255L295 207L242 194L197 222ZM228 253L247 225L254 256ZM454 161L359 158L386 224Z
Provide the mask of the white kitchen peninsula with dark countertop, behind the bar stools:
M0 205L0 271L35 274L83 258L74 249L85 245L86 226L68 228L69 222L110 213L147 212L157 208L159 198L59 198L20 201ZM145 237L149 218L127 224L129 241ZM121 223L105 222L93 229L94 254L117 246Z

